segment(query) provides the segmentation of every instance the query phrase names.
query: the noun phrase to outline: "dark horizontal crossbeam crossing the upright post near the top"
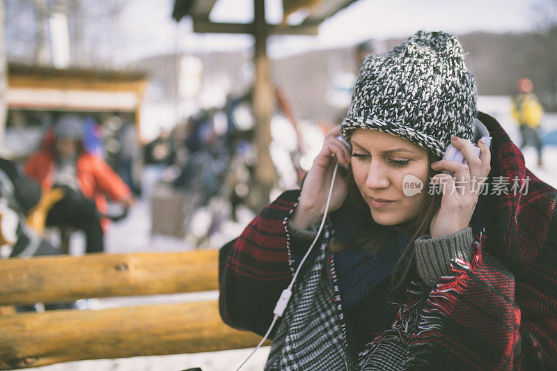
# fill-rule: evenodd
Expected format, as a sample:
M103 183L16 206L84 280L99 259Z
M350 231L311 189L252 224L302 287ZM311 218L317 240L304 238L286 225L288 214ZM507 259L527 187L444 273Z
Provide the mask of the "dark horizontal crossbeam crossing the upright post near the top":
M253 34L254 26L251 23L214 23L207 19L194 18L194 32L196 33L242 33ZM317 35L319 24L304 24L289 26L281 24L268 24L269 35Z

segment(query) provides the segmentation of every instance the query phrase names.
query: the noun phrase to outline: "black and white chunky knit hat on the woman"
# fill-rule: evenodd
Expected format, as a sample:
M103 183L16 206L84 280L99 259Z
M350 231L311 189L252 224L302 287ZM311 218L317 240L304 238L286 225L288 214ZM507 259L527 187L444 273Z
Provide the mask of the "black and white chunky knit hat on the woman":
M450 137L473 138L476 80L457 39L418 31L390 52L363 62L347 117L345 139L364 127L408 139L442 156Z

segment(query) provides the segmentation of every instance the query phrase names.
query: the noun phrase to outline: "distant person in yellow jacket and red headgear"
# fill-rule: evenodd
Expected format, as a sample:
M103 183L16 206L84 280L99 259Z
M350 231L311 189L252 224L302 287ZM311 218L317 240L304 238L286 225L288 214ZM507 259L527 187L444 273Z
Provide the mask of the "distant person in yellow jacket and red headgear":
M542 139L540 139L540 125L544 109L538 97L532 93L534 85L530 79L517 81L517 95L512 97L512 116L519 125L521 141L520 149L533 141L538 150L538 166L543 166Z

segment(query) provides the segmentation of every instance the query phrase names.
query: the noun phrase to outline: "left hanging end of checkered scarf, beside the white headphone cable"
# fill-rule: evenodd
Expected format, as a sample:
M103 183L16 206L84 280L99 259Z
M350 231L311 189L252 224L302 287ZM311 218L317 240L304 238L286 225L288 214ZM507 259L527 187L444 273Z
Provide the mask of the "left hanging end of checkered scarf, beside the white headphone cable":
M330 231L327 224L319 255L295 283L265 370L323 370L323 365L330 371L350 370L342 324L335 313L340 300L338 287L329 278L331 272L334 274L327 264Z

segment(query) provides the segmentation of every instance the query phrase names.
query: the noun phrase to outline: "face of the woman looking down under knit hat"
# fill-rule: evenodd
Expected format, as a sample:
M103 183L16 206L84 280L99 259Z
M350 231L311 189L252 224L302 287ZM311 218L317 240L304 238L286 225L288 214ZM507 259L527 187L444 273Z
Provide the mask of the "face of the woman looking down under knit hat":
M356 129L350 142L354 181L373 220L383 226L394 226L414 219L427 196L430 167L427 150L400 136L372 129ZM421 192L405 195L403 182L407 182L407 190L409 180L417 182L414 177L405 179L407 175L422 182Z

